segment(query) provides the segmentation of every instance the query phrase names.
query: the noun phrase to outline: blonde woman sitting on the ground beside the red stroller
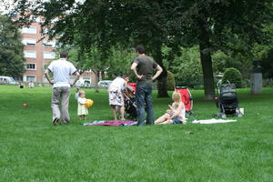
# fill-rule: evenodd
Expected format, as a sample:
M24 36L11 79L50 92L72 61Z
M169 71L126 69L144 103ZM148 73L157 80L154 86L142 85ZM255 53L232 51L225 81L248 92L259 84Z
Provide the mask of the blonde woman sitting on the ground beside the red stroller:
M179 92L175 91L172 95L173 104L169 106L170 109L166 111L166 114L160 116L155 124L180 124L186 123L186 110L184 103L181 101Z

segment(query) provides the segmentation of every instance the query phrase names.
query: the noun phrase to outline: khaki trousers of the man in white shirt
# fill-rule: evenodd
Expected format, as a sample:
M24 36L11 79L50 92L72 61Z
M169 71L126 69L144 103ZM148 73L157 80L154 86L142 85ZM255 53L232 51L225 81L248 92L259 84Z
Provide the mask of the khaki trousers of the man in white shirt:
M64 124L69 123L70 117L69 117L69 96L70 96L70 87L68 86L62 86L62 87L55 87L53 88L52 92L52 99L51 99L51 108L53 113L53 120L57 117L59 119L62 119ZM61 112L60 112L60 105L61 102Z

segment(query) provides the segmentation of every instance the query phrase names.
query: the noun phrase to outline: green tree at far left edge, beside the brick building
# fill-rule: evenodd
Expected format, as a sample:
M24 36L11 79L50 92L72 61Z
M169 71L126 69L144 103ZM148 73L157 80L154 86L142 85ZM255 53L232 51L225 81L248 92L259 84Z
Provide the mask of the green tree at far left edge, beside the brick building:
M22 76L25 71L24 45L15 24L6 15L0 15L0 75Z

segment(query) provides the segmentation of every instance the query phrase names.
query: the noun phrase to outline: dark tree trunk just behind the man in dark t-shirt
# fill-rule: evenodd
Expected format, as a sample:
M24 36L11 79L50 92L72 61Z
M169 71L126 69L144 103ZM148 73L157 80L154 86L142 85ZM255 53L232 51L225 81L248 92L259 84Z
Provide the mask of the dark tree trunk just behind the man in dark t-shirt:
M159 66L162 67L163 72L160 76L157 78L157 97L168 97L167 95L167 70L165 66L163 66L163 57L161 52L161 45L158 44L156 46L155 55L154 55L155 61Z

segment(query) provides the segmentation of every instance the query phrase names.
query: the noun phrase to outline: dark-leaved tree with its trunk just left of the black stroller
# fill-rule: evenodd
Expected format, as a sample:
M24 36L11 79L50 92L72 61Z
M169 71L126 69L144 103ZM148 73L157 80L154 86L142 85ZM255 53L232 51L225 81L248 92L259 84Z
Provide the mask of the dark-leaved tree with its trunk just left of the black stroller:
M267 42L263 28L272 20L269 0L185 0L168 1L170 29L181 45L199 45L205 98L214 98L211 55L214 51L249 52L255 43ZM240 42L239 47L234 47ZM236 48L238 48L236 50Z

